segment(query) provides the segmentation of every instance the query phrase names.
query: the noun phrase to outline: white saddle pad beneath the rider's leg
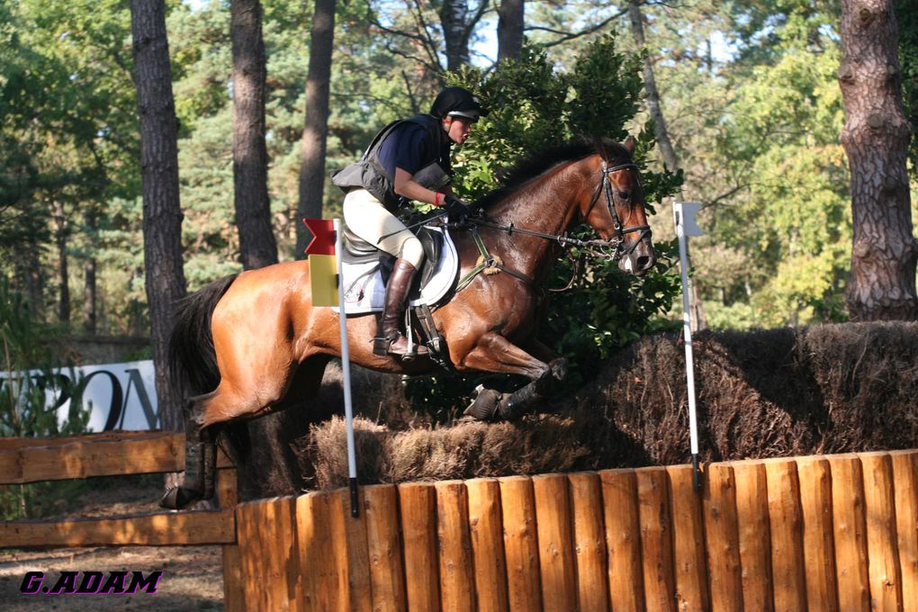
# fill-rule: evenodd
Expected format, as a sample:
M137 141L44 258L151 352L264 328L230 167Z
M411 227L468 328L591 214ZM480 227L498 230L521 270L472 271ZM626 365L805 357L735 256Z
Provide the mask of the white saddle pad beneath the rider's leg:
M443 235L443 247L440 261L428 284L421 287L418 299L411 300L411 306L433 306L450 290L459 272L459 255L450 233L440 226L428 226ZM348 315L360 315L368 312L381 312L386 298L386 286L378 261L366 263L344 263L344 312ZM334 306L335 312L339 311Z

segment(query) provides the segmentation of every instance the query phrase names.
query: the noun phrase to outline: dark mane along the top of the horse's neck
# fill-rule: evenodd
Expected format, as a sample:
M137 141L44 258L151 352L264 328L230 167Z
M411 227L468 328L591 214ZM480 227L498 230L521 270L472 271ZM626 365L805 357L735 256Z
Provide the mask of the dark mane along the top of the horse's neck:
M476 201L477 206L487 208L559 163L581 160L588 155L599 153L606 160L631 159L631 154L620 142L612 139L573 139L563 144L539 150L532 155L521 158L512 166L498 171L500 185Z

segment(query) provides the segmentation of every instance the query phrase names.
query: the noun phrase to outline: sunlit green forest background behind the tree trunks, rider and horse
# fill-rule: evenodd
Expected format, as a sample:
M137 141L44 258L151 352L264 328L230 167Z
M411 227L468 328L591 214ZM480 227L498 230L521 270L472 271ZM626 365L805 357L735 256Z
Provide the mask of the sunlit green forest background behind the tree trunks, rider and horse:
M242 268L230 4L166 2L188 291ZM499 52L531 61L519 78L541 70L548 83L574 71L590 44L613 40L623 65L654 85L655 95L645 90L627 126L645 135L648 170L662 172L665 163L680 169L681 197L704 205L700 224L708 234L693 241L692 255L707 323L771 328L845 320L852 222L839 143L838 2L531 0L522 21L527 45L509 52L498 43L512 39L512 4L331 3L323 174L357 158L388 121L425 112L442 83L472 78L467 68L449 77L447 70L471 66L476 79L487 78ZM899 58L914 125L918 17L906 5L897 5ZM317 36L311 28L323 6L263 0L261 8L267 191L283 261L298 257L304 239L297 206ZM0 0L0 276L36 316L73 332L143 335L150 328L129 9L123 0ZM496 115L531 117L528 103L509 100ZM650 136L660 139L662 117L668 151L653 147ZM495 126L482 122L481 133L493 136ZM912 218L915 151L912 141ZM468 188L487 184L515 152L467 163ZM320 197L322 216L340 212L336 188L326 184ZM664 243L673 233L669 198L655 207L655 239ZM652 309L665 316L668 306Z

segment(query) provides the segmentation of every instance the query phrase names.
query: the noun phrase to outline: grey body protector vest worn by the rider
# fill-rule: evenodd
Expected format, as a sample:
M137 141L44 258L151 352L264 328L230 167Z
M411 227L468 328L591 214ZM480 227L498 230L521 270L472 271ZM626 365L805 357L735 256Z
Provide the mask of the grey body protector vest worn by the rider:
M375 135L364 156L349 166L331 172L331 183L338 185L344 193L352 189L363 188L382 202L386 209L395 211L408 204L408 199L395 191L395 177L390 176L380 163L378 151L392 131L405 124L420 125L425 131L427 157L421 161L420 170L412 177L415 183L432 191L440 191L453 178L450 167L449 141L443 131L440 120L432 115L416 115L409 119L393 121Z

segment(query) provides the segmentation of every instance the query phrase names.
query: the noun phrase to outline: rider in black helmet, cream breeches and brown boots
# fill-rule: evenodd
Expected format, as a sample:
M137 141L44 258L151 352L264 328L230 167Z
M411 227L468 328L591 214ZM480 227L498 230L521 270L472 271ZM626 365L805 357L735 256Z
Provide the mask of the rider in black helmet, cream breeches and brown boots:
M376 355L426 355L426 347L409 351L398 322L408 305L411 281L424 260L420 240L393 214L409 200L443 206L450 220L462 222L469 206L449 187L453 176L450 147L462 144L478 117L487 115L466 89L447 87L428 115L390 123L376 134L361 161L337 172L331 182L346 192L344 223L358 237L394 255L386 300L373 344ZM385 238L383 238L385 237Z

